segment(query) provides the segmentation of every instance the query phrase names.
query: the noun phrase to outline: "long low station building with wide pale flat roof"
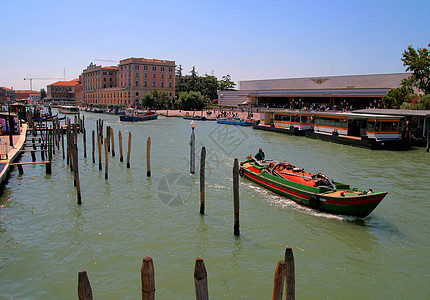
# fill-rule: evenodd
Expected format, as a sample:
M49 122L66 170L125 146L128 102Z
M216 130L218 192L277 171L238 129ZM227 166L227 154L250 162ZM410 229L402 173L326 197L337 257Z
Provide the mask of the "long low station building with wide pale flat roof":
M388 91L400 87L409 76L394 73L240 81L238 91L219 91L218 103L277 108L379 108Z

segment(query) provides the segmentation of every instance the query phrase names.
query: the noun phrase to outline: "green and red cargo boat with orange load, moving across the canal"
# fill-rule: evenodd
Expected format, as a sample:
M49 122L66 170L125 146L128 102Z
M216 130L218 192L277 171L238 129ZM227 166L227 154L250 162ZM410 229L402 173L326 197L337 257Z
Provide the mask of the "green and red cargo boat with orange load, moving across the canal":
M364 218L387 195L387 192L351 188L321 173L308 173L286 162L257 161L250 156L240 163L239 172L241 176L299 204L333 214Z

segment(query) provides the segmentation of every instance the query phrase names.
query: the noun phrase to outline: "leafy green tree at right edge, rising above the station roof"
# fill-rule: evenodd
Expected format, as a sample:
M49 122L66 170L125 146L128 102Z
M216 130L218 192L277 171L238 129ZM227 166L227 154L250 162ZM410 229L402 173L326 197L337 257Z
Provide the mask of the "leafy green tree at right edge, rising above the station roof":
M430 44L428 45L430 48ZM412 75L403 80L406 87L416 87L425 95L430 93L430 51L427 48L417 48L412 45L403 52L403 65L407 66L406 71L411 71Z

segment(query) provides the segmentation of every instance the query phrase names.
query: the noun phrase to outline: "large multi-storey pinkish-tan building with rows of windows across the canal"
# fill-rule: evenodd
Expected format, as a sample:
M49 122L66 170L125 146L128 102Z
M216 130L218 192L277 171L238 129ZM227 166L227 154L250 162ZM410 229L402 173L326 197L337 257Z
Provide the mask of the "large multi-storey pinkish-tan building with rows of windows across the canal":
M80 76L85 105L132 105L152 90L175 98L175 62L127 58L115 67L91 63Z

